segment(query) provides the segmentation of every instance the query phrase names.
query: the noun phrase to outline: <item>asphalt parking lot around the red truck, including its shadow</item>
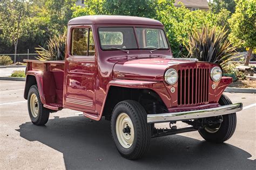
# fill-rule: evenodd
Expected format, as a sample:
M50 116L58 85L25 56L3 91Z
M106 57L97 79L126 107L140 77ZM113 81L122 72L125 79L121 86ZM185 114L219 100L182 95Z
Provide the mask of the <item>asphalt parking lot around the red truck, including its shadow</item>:
M143 159L122 158L110 123L63 109L45 126L30 122L23 98L25 82L0 81L0 169L256 169L256 94L225 93L245 110L224 144L211 144L198 132L151 140Z

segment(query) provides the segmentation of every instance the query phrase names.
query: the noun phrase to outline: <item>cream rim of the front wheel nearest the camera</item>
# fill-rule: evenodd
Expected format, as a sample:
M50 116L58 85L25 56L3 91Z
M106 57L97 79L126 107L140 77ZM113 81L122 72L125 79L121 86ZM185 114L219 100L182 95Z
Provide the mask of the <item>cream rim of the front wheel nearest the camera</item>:
M132 120L127 114L121 113L118 115L116 121L116 133L120 145L124 148L132 146L134 140L134 128Z

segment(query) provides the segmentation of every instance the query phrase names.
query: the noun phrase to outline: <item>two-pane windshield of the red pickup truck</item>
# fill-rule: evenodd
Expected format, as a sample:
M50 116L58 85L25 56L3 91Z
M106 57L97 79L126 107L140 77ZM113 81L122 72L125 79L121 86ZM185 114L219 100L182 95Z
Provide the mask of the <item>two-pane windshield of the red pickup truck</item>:
M99 28L100 46L104 50L169 49L163 30L136 27L135 31L133 27Z

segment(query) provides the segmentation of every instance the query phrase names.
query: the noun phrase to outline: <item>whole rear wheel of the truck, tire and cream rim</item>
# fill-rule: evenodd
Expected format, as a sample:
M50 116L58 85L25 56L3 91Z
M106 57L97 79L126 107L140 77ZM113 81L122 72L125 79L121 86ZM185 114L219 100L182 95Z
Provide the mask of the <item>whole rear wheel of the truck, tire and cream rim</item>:
M36 85L29 89L28 110L31 122L35 125L44 125L48 122L50 110L44 108Z

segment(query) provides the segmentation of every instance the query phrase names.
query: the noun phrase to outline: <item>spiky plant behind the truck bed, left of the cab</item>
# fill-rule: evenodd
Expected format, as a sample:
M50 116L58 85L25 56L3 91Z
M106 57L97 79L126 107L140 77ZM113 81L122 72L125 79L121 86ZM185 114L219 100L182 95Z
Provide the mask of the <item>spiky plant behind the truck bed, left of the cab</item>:
M54 36L47 42L47 49L39 46L36 48L38 60L64 60L66 34Z

